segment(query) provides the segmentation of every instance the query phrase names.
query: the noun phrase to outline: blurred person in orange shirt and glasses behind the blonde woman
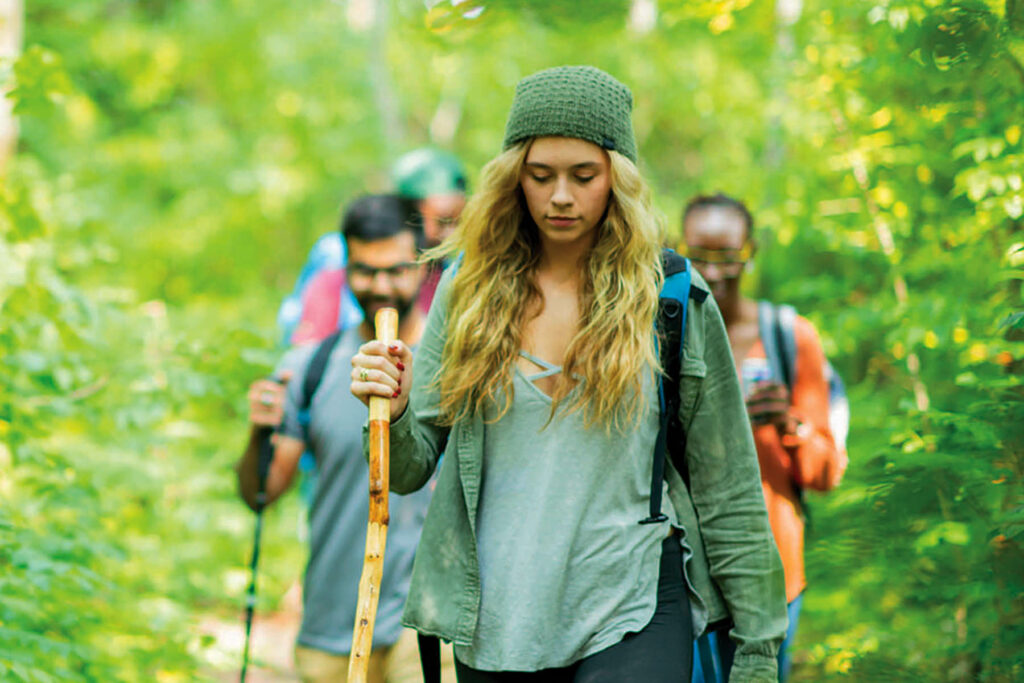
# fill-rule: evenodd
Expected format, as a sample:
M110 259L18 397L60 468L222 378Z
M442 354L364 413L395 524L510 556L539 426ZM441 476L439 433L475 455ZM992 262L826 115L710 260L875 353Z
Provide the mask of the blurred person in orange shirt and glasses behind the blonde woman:
M836 486L846 470L847 457L830 428L825 376L829 367L810 321L799 315L790 321L795 356L792 388L786 378L776 377L772 370L769 344L774 341L773 332L781 329L772 330L767 319L775 313L763 311L780 309L744 297L740 291L743 271L756 251L753 231L754 218L743 203L721 193L695 197L683 211L686 255L718 302L742 378L768 518L785 570L790 626L778 663L779 680L784 681L790 670L787 652L807 586L802 492ZM716 649L727 669L731 644L718 641Z

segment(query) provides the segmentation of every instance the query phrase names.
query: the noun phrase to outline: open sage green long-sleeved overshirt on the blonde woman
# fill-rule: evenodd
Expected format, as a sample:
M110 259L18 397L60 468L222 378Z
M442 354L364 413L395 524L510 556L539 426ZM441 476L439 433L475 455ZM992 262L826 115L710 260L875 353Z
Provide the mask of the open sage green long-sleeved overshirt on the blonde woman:
M410 405L391 424L390 472L392 490L416 490L444 453L402 623L467 647L476 633L481 597L476 535L484 424L482 416L451 429L437 424L438 393L432 380L444 347L452 278L450 269L427 317ZM707 289L696 272L693 282ZM731 620L736 654L729 680L775 681L775 656L786 628L782 564L768 526L725 326L710 296L702 303L689 302L681 374L680 418L687 432L690 486L671 463L666 478L676 519L692 549L684 561L698 602L694 632ZM365 450L369 453L369 439ZM538 608L539 622L554 616L543 605Z

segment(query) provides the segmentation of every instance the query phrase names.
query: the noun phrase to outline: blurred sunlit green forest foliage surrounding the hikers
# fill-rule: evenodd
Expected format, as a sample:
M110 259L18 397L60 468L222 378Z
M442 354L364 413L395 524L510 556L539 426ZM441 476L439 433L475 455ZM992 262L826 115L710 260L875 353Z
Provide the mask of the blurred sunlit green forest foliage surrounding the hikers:
M795 680L1024 680L1022 0L0 1L0 680L230 680L278 304L342 203L424 143L475 173L559 63L632 87L670 239L750 203L753 293L850 385Z

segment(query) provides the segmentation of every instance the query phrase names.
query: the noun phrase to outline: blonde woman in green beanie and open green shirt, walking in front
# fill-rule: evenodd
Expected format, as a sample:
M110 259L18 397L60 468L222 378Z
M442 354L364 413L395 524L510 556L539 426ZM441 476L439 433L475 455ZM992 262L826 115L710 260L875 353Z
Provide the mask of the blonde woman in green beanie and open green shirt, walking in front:
M733 681L774 681L785 594L729 342L689 302L689 486L658 433L659 224L629 89L592 67L523 79L416 352L365 344L352 393L391 396L391 484L445 454L403 622L455 643L460 682L689 681L731 621ZM699 275L698 287L707 289Z

